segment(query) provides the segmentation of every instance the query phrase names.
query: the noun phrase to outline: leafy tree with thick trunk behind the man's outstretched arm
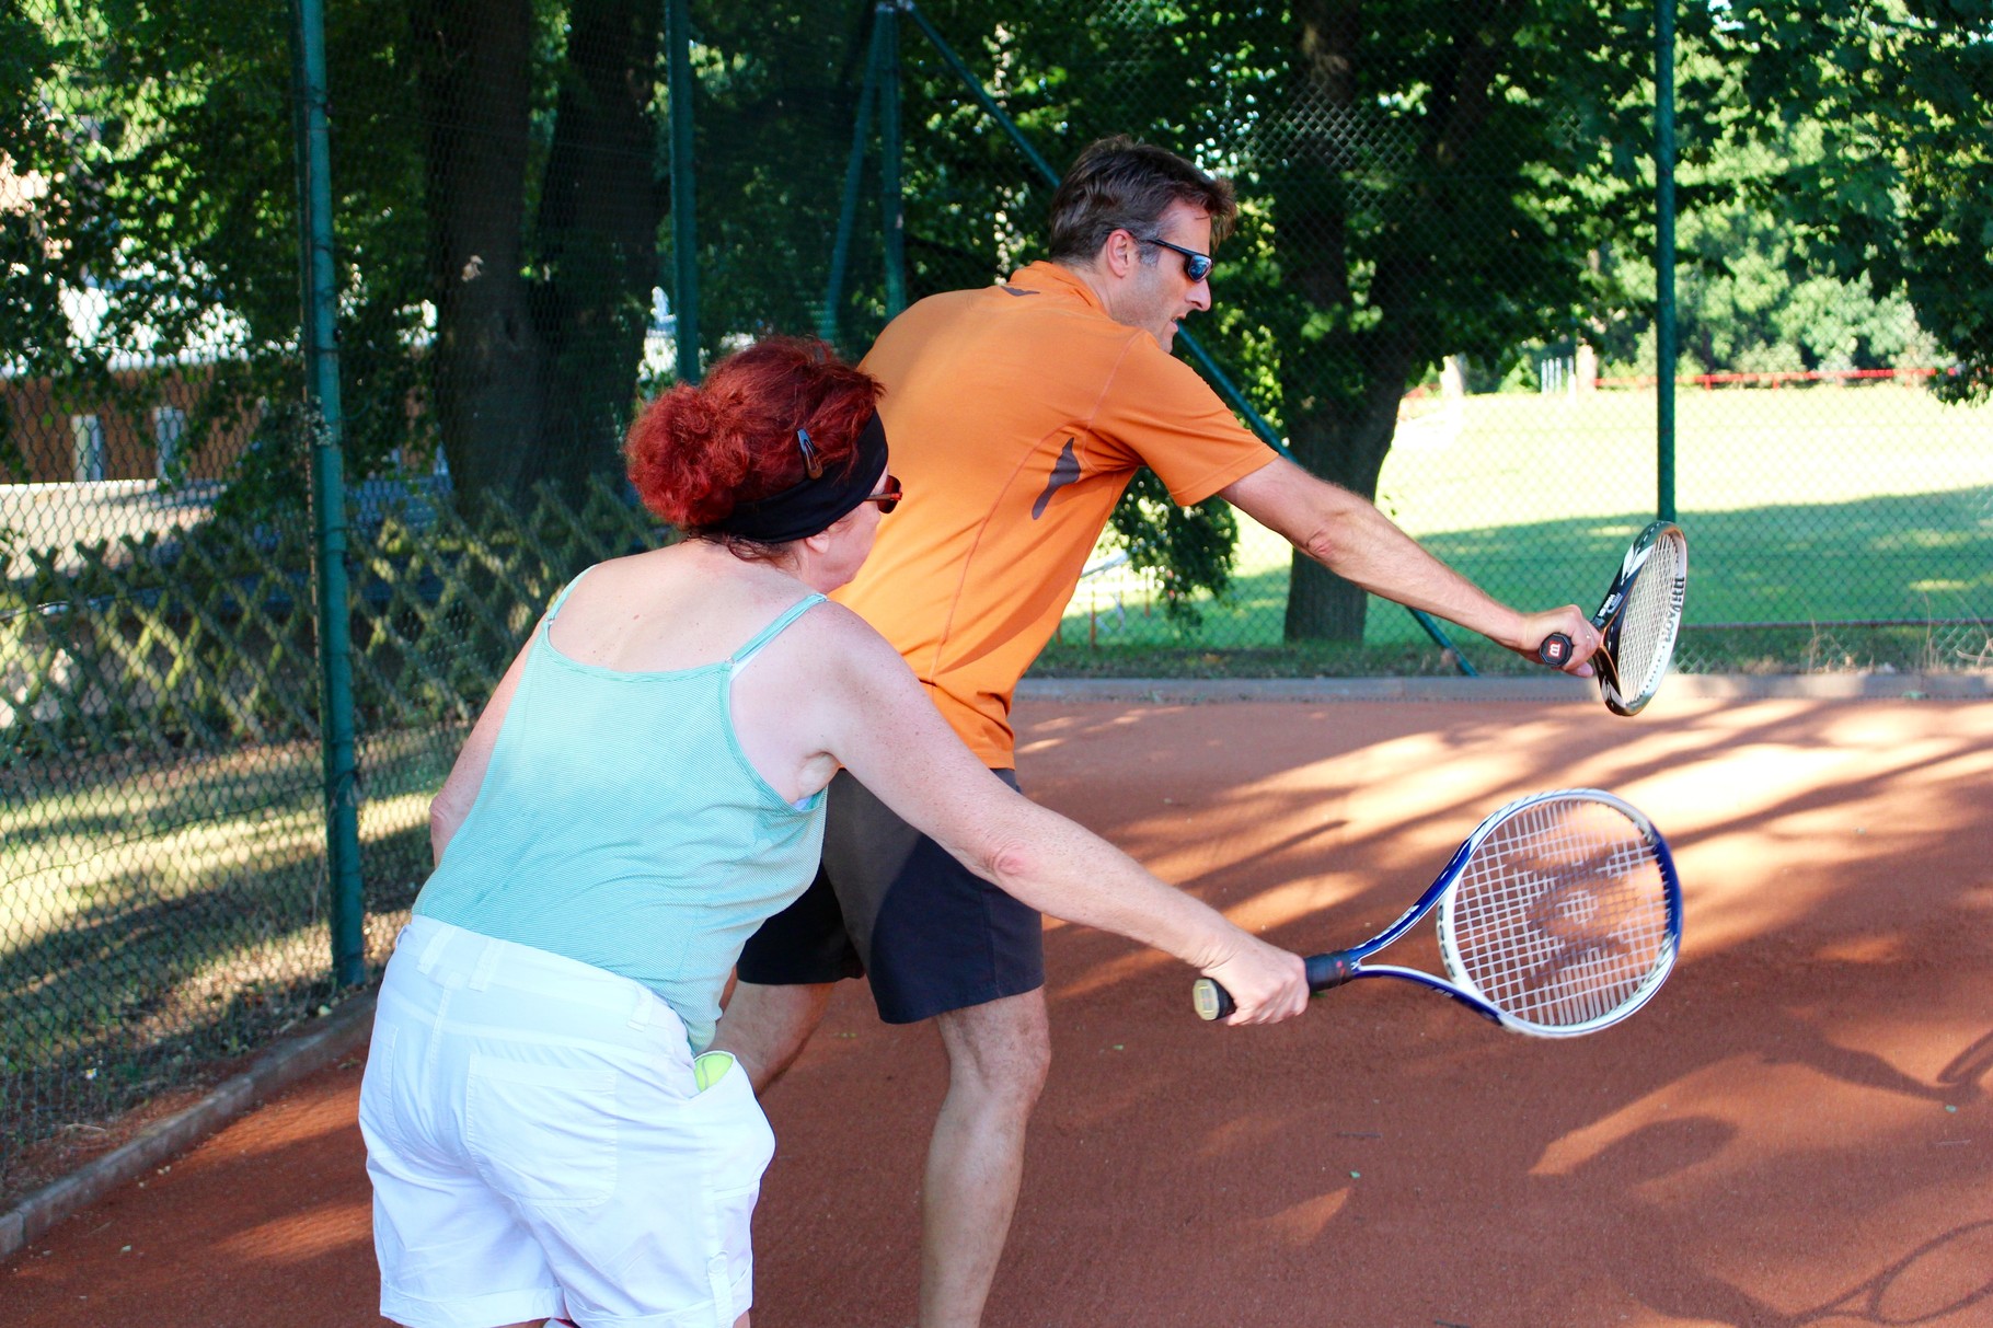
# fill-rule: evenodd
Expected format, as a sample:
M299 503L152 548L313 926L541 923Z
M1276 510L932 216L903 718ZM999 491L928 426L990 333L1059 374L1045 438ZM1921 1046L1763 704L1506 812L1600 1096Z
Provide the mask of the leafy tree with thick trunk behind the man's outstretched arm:
M1602 295L1590 253L1636 229L1644 32L1644 6L1586 0L1291 8L1250 181L1303 465L1375 497L1431 365L1570 327ZM1359 640L1365 608L1295 556L1289 640Z

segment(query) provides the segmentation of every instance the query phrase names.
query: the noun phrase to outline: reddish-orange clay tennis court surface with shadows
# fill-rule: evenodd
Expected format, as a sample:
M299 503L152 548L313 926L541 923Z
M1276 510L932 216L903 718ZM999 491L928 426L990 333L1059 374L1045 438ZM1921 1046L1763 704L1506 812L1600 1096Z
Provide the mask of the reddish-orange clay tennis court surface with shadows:
M1218 1029L1180 965L1054 927L989 1328L1993 1324L1993 702L1706 692L1026 696L1026 792L1295 949L1559 786L1662 828L1686 941L1630 1023L1549 1043L1387 981ZM347 1061L34 1240L8 1322L379 1322L357 1091ZM847 985L765 1103L757 1328L913 1322L941 1091L933 1033Z

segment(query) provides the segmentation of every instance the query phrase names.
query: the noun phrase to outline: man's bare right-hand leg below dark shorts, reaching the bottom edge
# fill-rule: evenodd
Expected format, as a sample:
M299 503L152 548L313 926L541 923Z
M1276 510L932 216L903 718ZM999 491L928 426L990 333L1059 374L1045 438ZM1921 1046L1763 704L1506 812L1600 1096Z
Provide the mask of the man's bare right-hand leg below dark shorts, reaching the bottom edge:
M1052 1041L1044 989L937 1015L949 1095L921 1192L921 1328L977 1328L1010 1234Z

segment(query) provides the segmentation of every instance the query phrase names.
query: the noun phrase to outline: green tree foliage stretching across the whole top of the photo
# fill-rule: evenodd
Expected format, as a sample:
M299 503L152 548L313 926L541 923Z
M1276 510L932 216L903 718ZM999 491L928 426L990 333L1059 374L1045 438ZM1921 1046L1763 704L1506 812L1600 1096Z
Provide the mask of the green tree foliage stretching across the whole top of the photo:
M1987 391L1989 8L1680 12L1692 357L1935 349L1961 365L1943 391ZM692 12L702 349L835 323L859 353L891 313L875 146L847 195L853 144L877 144L853 126L879 10ZM353 473L436 449L460 489L614 469L676 257L660 14L656 0L327 6ZM917 299L1038 257L1050 185L895 14ZM1319 475L1375 495L1397 405L1443 355L1499 361L1578 335L1638 353L1626 329L1654 299L1650 4L933 0L921 14L1054 169L1128 132L1238 179L1220 303L1192 331ZM0 10L8 167L46 185L0 211L0 359L82 399L116 387L120 355L201 355L209 417L295 401L291 106L289 34L267 6ZM100 309L82 341L78 291ZM295 498L295 447L265 435L235 495ZM1174 600L1224 584L1228 512L1164 510L1138 487L1114 528L1166 568ZM1307 560L1291 586L1289 638L1361 634L1357 588Z

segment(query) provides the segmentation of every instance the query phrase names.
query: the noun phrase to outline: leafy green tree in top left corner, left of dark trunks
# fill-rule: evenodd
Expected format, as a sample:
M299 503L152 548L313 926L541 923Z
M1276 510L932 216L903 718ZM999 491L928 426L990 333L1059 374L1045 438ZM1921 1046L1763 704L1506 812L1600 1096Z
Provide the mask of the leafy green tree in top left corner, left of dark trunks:
M383 60L385 8L335 6L329 30L335 70L349 76L335 209L347 439L361 473L411 441L421 373L411 347L423 335L409 295L421 213L399 205L419 193L409 140L393 128L351 132L407 120L405 86L351 78ZM259 510L301 502L301 457L283 429L283 403L301 395L283 10L104 0L8 12L22 40L4 44L0 76L8 104L28 112L8 128L6 152L42 191L26 213L6 217L0 345L24 373L52 379L58 401L124 409L157 395L175 363L191 365L205 375L189 415L195 437L263 421L229 500ZM80 297L102 311L88 335L68 309ZM155 369L112 371L134 361Z

